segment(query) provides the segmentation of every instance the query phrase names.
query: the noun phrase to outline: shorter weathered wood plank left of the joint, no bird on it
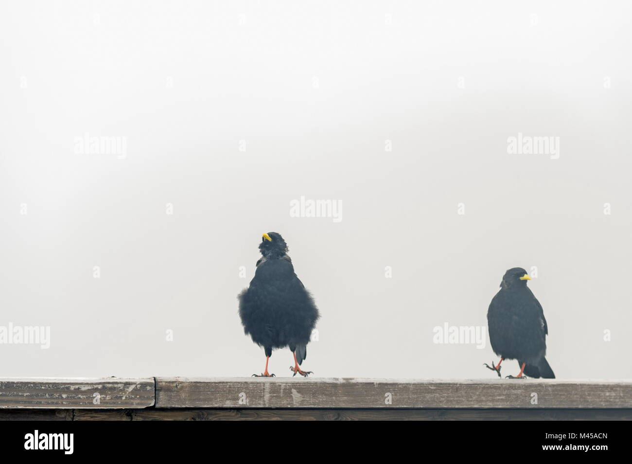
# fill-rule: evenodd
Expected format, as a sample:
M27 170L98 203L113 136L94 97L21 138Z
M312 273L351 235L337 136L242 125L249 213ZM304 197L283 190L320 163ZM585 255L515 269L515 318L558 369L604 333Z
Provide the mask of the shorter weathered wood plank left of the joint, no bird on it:
M145 408L154 378L0 378L0 408Z

